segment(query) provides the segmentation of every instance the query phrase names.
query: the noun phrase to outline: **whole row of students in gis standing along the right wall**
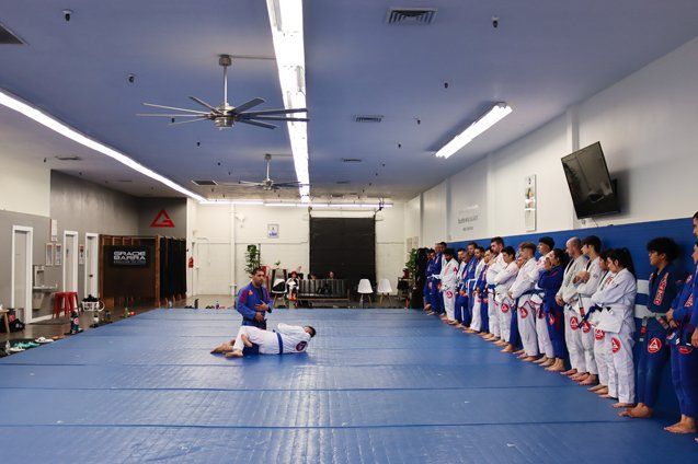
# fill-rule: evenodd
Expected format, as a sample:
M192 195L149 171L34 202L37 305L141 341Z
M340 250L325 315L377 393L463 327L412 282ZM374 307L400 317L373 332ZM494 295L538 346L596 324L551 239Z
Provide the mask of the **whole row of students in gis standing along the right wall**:
M698 212L693 218L698 237ZM536 258L536 251L539 257ZM652 417L662 370L671 362L680 408L675 433L695 433L698 415L698 242L693 272L676 264L668 237L646 244L649 302L636 337L637 277L627 248L603 250L602 240L571 237L556 248L549 236L517 250L494 237L457 253L445 243L430 251L425 311L478 334L551 372L560 372L616 402L629 418ZM633 362L636 338L639 356Z

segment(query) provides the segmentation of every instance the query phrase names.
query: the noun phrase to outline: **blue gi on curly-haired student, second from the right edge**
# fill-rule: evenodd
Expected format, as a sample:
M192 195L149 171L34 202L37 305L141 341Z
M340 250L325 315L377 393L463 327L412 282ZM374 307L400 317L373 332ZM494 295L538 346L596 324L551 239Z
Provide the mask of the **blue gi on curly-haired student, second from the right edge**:
M679 292L684 281L684 272L668 264L662 270L654 270L650 276L650 293L648 310L664 315ZM664 317L661 322L656 317L642 320L640 332L640 347L638 361L638 403L644 403L648 407L654 407L656 403L662 369L670 357L666 346L668 324Z

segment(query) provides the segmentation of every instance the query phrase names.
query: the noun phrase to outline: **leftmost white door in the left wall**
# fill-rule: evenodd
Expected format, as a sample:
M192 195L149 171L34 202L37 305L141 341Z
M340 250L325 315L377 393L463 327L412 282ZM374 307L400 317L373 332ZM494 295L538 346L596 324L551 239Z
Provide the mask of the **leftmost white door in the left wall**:
M12 272L10 276L12 294L10 305L25 323L32 322L32 263L34 229L12 227Z

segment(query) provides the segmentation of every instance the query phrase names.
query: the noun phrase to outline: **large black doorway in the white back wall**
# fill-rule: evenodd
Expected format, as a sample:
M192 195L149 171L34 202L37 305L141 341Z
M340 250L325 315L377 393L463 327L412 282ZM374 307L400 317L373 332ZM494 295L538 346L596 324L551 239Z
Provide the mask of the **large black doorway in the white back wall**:
M323 279L330 270L351 289L376 281L374 218L310 218L310 272Z

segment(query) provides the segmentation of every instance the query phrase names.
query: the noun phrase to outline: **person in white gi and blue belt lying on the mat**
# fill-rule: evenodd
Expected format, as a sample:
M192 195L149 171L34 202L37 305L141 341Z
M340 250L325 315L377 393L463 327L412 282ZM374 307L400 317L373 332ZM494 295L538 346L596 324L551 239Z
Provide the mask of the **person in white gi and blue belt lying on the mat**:
M309 325L278 324L276 330L263 330L251 326L241 326L238 336L230 343L221 344L211 355L226 353L226 358L241 358L244 348L259 348L260 355L289 355L305 352L308 343L316 336L316 329Z

